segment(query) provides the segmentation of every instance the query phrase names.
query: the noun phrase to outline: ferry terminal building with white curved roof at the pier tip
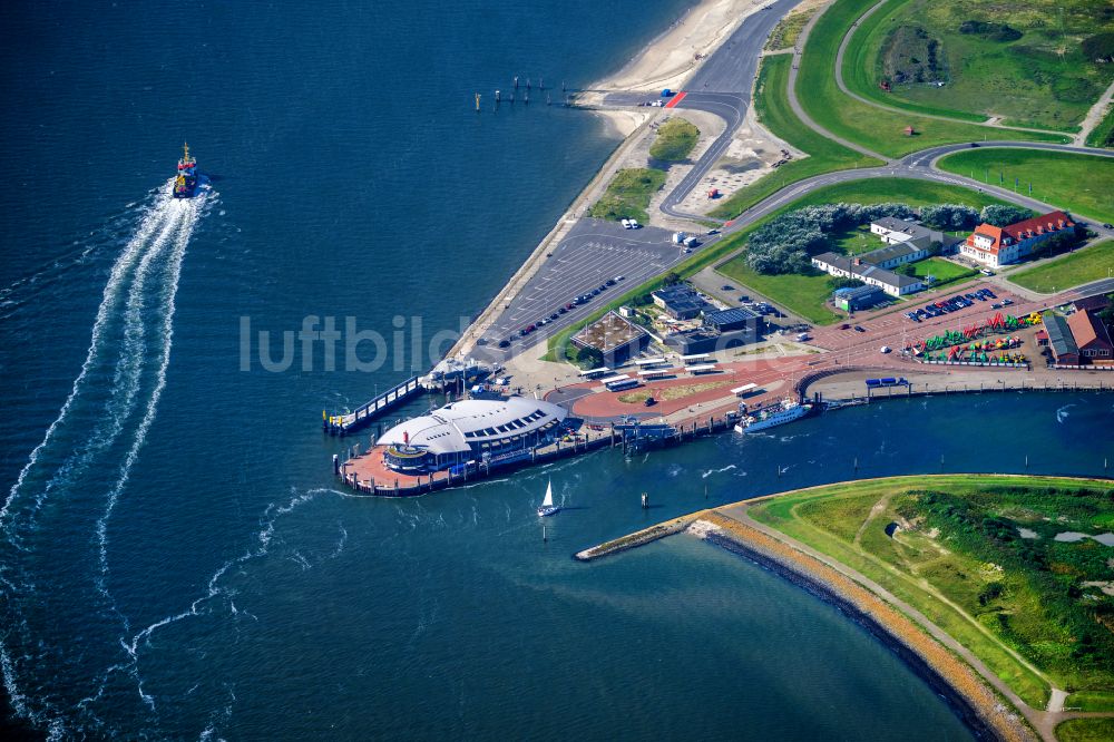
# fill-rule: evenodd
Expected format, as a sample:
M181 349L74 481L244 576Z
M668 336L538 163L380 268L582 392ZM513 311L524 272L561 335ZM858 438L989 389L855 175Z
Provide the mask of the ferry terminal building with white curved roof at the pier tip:
M377 441L387 466L407 473L528 451L551 442L568 412L527 397L452 402L394 426Z

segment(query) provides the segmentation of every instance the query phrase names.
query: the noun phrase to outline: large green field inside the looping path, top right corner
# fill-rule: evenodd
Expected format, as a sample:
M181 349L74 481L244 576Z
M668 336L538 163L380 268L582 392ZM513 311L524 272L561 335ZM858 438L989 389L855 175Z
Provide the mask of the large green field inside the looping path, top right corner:
M890 0L856 31L843 60L851 90L889 106L983 120L1003 116L1038 128L1077 130L1087 109L1114 79L1110 65L1086 59L1081 41L1114 30L1103 0L1026 0L979 8L969 0ZM961 33L966 20L1006 23L1009 41ZM879 86L885 47L899 29L922 29L942 45L946 85L928 80ZM989 95L988 95L989 92Z

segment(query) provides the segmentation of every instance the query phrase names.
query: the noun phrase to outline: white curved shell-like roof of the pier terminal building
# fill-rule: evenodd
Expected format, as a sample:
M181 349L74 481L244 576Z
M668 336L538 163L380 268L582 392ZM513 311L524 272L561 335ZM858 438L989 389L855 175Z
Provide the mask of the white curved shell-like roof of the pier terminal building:
M410 446L433 453L468 451L470 443L530 433L567 414L561 407L526 397L468 399L394 426L377 443L401 446L409 433Z

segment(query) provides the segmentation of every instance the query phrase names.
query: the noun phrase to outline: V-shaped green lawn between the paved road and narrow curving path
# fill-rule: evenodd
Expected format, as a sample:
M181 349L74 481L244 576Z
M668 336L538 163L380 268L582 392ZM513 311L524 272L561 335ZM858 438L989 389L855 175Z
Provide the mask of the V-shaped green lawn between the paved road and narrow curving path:
M860 155L853 149L848 149L817 134L793 114L786 95L792 62L793 55L791 53L773 55L762 60L759 81L755 86L754 110L764 127L779 138L808 153L809 156L803 159L790 160L773 173L764 175L751 185L735 192L710 212L711 216L731 218L786 185L810 178L813 175L846 170L852 167L881 165L880 160Z

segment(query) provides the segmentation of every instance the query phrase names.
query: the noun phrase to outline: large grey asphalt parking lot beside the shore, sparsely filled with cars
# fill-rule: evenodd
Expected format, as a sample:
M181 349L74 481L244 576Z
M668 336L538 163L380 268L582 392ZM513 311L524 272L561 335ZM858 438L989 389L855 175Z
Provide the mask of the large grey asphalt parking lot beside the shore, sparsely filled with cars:
M502 361L515 350L500 349L502 341L536 343L538 335L551 335L567 328L600 304L690 257L692 253L685 253L672 238L672 232L658 227L625 230L617 222L580 219L491 324L483 343L472 354L483 360ZM575 303L577 296L592 294L609 279L615 280L615 285L599 291L584 304ZM573 304L573 309L560 313L568 304ZM549 321L554 314L557 319ZM543 320L546 324L537 326ZM521 330L531 324L537 330L524 340Z

